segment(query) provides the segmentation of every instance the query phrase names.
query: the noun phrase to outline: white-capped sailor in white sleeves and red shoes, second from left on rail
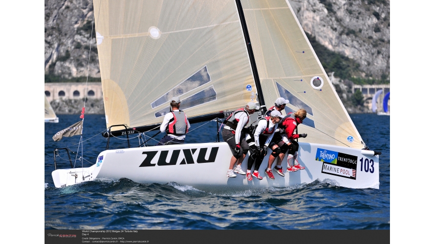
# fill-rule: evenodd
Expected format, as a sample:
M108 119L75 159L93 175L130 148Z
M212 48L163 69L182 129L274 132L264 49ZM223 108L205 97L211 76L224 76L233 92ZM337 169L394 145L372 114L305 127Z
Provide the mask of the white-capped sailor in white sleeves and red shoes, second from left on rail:
M273 138L275 130L278 128L278 123L284 118L281 112L273 110L270 113L270 117L261 118L258 120L258 125L253 131L253 134L246 135L246 142L251 150L251 155L248 158L248 170L246 170L246 178L248 181L252 181L252 176L258 180L263 179L258 173L258 168L263 162L264 157L267 154L267 148L270 141ZM275 152L272 152L274 154ZM274 154L278 156L278 154ZM255 170L251 175L252 164L255 162Z

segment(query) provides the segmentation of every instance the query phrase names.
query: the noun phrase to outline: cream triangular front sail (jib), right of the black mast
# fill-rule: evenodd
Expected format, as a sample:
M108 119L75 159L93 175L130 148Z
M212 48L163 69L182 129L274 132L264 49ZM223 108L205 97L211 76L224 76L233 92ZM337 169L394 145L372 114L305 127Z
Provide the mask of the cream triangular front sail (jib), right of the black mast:
M285 97L287 113L306 109L304 142L364 148L288 0L241 2L266 106Z

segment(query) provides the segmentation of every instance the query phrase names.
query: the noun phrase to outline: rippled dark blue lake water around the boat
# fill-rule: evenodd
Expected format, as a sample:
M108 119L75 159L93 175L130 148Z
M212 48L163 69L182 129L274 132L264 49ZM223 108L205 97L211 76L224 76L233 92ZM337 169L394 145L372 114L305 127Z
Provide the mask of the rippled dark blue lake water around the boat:
M51 177L53 150L68 147L77 152L80 139L74 136L53 141L56 132L80 120L79 115L58 115L59 123L45 123L45 229L389 230L390 116L350 116L368 147L382 152L379 189L313 182L219 194L173 182L139 184L128 179L55 188ZM186 143L215 141L216 123L204 124L192 125L191 130L201 128L189 133ZM104 115L86 115L83 128L83 158L94 163L106 146L106 138L101 136L105 131ZM148 132L149 136L154 134ZM111 149L126 147L125 141L111 138L110 142ZM61 157L68 158L65 153ZM58 167L67 168L69 163L62 158L56 159Z

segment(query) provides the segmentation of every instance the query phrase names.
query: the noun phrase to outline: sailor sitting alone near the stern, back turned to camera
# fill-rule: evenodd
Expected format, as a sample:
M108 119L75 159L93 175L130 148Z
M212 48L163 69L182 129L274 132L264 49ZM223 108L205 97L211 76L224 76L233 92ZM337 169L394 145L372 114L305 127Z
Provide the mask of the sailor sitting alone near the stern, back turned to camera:
M182 144L186 133L189 131L190 124L186 114L180 109L180 98L172 97L170 106L172 111L167 113L163 118L160 131L166 131L166 135L157 143L157 145Z

